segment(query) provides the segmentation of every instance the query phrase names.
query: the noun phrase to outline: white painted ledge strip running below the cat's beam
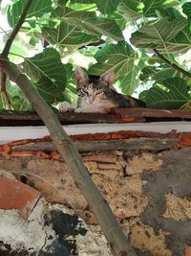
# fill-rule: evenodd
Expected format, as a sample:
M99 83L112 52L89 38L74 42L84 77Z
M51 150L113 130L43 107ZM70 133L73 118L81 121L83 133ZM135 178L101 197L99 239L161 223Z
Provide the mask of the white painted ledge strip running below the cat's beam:
M126 123L126 124L84 124L63 126L69 135L111 132L119 130L155 131L161 133L176 129L178 132L191 132L191 122L155 122L155 123ZM48 129L43 127L0 127L0 144L22 139L36 139L49 135Z

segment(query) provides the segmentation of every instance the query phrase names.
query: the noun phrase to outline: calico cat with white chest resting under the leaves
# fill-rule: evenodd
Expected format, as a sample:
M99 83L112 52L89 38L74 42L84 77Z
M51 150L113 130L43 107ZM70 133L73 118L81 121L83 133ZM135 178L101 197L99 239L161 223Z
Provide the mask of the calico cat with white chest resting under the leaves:
M142 101L119 94L111 87L114 72L108 72L101 77L88 76L83 69L78 67L74 74L78 94L77 106L74 108L69 103L60 103L58 105L60 112L108 113L115 107L144 106Z

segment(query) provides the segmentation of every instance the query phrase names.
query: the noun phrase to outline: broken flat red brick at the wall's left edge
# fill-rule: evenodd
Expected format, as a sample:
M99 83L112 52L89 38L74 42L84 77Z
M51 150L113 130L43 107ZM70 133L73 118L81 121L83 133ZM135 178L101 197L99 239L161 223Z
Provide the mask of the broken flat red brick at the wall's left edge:
M0 209L19 210L22 217L28 218L40 193L16 179L0 176Z

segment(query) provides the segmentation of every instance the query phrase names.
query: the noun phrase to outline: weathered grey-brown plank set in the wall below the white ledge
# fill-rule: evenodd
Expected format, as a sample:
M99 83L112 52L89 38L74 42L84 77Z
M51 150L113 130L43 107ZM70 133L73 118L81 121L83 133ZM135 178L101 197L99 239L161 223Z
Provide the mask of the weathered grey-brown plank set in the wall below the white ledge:
M164 151L172 149L177 138L130 138L109 141L74 141L78 151ZM29 143L14 146L12 151L55 151L53 142Z

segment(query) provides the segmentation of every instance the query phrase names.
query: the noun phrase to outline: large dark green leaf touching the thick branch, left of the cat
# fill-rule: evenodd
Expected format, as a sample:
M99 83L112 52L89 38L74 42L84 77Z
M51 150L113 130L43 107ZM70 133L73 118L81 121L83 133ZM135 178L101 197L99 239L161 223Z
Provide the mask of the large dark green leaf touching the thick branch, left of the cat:
M32 79L38 92L50 104L63 100L62 92L66 86L65 65L53 48L32 58L25 58L24 71Z

